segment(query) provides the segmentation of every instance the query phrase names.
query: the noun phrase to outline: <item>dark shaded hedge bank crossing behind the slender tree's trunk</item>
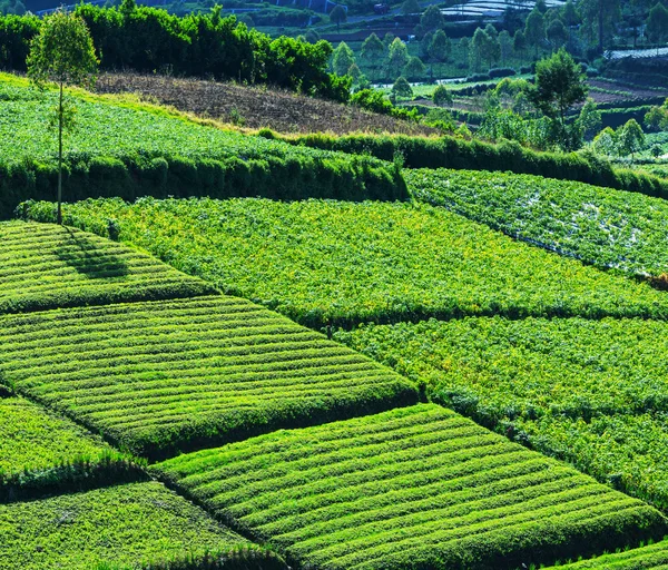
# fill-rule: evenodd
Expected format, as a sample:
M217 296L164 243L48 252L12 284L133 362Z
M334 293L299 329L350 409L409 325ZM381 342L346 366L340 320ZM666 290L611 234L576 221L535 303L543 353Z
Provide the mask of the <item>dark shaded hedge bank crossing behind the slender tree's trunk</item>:
M10 218L28 199L52 200L58 171L52 163L27 159L0 164L0 219ZM405 199L407 191L399 170L364 158L307 159L275 157L223 160L141 155L82 156L66 164L68 202L89 197L140 196L157 198L210 196L213 198L263 196L276 199L333 198L342 200Z

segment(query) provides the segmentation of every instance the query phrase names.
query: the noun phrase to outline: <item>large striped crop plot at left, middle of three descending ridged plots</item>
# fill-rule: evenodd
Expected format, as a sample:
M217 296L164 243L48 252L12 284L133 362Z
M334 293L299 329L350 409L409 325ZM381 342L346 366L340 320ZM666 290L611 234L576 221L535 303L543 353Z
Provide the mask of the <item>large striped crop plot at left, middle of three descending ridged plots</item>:
M418 396L320 333L217 296L6 315L0 380L148 458Z

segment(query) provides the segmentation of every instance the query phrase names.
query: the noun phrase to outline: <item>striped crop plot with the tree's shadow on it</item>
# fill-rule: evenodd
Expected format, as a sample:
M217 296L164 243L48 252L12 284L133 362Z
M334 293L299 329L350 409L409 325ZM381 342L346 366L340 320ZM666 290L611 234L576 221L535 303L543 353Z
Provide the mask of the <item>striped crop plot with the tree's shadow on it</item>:
M0 313L214 292L149 255L75 228L0 223Z

